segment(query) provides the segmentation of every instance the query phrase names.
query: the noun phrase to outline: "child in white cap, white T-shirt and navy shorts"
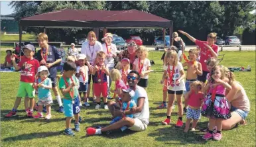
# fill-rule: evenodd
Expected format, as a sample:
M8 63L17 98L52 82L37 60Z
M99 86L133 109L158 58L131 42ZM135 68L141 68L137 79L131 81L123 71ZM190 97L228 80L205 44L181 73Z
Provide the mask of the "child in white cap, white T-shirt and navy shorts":
M82 97L82 93L84 95L84 107L89 107L87 98L87 88L88 88L88 71L89 68L86 66L86 55L80 54L78 58L78 63L80 66L76 68L76 77L79 78L80 87L78 89L80 97Z

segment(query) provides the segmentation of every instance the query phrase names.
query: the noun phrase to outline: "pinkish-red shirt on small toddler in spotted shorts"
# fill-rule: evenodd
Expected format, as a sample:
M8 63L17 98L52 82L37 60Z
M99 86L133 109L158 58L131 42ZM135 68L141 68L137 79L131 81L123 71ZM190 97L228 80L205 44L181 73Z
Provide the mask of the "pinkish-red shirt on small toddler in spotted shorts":
M201 107L201 99L204 99L204 93L195 93L192 91L190 97L188 98L188 105L192 107Z

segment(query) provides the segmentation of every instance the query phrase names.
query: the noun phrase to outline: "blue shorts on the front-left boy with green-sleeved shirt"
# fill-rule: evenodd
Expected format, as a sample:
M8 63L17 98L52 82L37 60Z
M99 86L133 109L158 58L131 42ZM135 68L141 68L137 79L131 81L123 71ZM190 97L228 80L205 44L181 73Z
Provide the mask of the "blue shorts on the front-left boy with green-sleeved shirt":
M73 117L74 115L80 113L79 97L76 97L73 99L73 101L70 99L63 99L64 114L66 117Z

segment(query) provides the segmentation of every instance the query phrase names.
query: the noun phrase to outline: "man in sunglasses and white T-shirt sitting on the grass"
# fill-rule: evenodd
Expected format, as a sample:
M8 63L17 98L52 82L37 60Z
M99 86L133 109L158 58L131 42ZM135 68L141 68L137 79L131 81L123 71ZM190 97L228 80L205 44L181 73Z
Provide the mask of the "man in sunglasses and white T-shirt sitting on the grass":
M119 104L115 103L114 101L109 102L108 105L109 111L111 112L113 118L130 114L134 114L134 117L123 117L123 119L120 121L117 121L116 123L110 124L109 126L105 126L103 128L89 127L86 129L87 135L101 134L102 132L119 129L122 126L128 126L130 130L138 132L147 129L147 125L149 124L149 99L145 89L137 85L139 79L139 73L136 71L131 71L129 75L127 75L129 88L135 91L135 96L132 99L137 104L137 108L134 111L131 109L120 111L120 109L116 109L119 107Z

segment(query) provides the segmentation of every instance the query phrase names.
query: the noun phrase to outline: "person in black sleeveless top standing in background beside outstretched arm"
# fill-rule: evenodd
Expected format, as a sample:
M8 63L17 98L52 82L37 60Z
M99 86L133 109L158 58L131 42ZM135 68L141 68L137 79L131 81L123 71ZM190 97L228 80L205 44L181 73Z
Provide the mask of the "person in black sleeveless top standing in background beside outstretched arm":
M185 46L182 38L178 36L177 32L172 33L172 46L176 46L178 48L178 57L180 57L180 62L182 61L182 53L184 52Z

